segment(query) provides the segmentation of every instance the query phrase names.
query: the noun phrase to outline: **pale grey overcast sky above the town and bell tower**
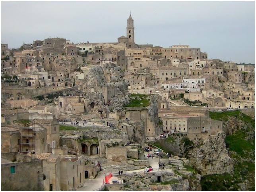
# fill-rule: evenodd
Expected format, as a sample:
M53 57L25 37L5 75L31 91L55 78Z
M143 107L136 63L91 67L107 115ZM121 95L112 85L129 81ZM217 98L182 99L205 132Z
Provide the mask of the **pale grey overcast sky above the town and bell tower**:
M185 44L208 58L255 63L255 1L1 1L1 43L117 42L130 11L136 44Z

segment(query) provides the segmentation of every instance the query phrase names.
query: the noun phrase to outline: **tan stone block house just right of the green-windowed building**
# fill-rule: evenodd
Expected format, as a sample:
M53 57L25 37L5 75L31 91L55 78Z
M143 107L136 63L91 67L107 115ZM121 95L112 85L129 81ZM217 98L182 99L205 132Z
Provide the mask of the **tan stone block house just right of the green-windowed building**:
M54 150L52 153L27 154L35 156L43 162L43 174L45 175L45 191L69 191L76 190L85 181L85 160L77 154L57 155Z

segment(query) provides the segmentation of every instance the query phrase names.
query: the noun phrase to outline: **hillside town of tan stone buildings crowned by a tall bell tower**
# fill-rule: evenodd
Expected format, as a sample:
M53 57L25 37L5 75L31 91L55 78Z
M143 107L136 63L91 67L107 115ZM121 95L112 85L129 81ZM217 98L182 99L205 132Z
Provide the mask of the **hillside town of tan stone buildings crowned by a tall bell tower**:
M116 42L1 44L1 190L196 191L201 175L232 172L221 142L200 174L154 142L225 138L209 111L255 118L255 64L135 37L130 14Z

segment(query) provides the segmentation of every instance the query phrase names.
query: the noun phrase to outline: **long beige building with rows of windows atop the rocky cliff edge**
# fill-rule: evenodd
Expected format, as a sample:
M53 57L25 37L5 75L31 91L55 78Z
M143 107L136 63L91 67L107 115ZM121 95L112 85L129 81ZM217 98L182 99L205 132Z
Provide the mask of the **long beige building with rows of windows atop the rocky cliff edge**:
M190 138L217 134L222 131L222 122L211 120L209 111L189 106L168 106L162 102L159 117L163 121L163 131L186 132Z

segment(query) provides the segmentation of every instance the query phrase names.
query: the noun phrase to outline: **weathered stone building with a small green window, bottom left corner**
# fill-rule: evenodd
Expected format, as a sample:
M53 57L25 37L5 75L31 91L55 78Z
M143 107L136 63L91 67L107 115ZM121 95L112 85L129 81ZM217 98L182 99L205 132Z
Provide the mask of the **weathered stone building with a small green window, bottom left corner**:
M1 190L43 191L43 162L18 152L1 153Z

